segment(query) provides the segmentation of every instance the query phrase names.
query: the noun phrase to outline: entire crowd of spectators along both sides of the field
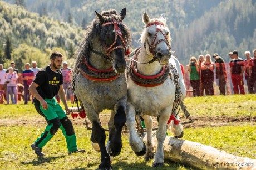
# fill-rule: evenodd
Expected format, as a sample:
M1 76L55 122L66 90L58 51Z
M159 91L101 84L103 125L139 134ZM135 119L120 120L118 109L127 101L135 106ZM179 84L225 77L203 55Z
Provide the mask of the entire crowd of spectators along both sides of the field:
M199 55L198 59L192 56L186 66L187 69L183 67L185 83L186 77L189 79L189 83L186 83L188 92L191 91L193 96L214 95L216 94L214 80L216 80L220 95L227 95L227 89L232 91L231 94L245 94L244 81L248 92L250 94L256 93L256 49L253 50L253 58L250 51L244 52L244 59L239 57L236 50L228 53L228 55L230 57L229 63L225 63L218 53L213 54L215 63L211 60L210 54ZM0 104L5 102L10 104L10 101L12 104L18 104L18 100L21 101L22 99L24 104L33 101L33 96L29 93L28 87L39 70L36 61L32 61L31 64L26 63L21 73L15 68L14 61L11 62L8 69L4 69L3 64L0 64ZM185 70L188 70L189 74L186 74ZM74 95L70 88L71 71L72 69L68 67L67 61L63 62L61 69L63 89L66 92L67 99L70 99L73 103ZM56 98L60 102L58 95Z

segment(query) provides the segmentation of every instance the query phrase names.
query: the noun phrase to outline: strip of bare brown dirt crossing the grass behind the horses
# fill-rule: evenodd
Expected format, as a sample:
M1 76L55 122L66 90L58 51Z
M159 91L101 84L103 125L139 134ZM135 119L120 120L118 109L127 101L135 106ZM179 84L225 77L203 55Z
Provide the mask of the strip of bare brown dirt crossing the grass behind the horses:
M83 125L85 120L81 118L73 119L71 116L71 121L73 124ZM193 122L184 117L180 118L181 123L184 128L202 128L202 127L220 127L220 126L235 126L241 125L241 123L252 123L256 125L256 116L254 117L230 117L230 116L191 116ZM100 114L100 120L103 126L107 127L107 122L109 122L110 114ZM154 127L157 127L157 120L154 117ZM88 121L88 119L87 119ZM91 123L89 126L91 127ZM46 124L46 121L42 116L33 117L8 117L0 119L0 126L13 126L13 125L35 125L40 126L41 124ZM84 126L84 125L83 125Z

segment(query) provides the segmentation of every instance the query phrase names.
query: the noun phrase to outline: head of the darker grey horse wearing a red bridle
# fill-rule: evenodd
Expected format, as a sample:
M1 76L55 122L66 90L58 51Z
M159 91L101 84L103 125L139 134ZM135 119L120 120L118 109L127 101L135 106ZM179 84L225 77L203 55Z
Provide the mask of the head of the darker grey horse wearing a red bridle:
M129 51L131 44L130 30L122 23L126 15L126 8L122 9L119 16L115 9L101 13L95 11L95 13L101 24L99 30L101 51L111 61L116 73L124 73L126 69L125 54Z

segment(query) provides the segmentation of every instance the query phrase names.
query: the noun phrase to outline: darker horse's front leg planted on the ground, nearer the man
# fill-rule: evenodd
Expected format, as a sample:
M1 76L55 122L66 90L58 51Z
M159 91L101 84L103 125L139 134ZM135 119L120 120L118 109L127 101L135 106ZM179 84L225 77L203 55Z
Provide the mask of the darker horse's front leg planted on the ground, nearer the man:
M107 153L107 149L105 146L106 134L104 129L101 126L99 115L96 112L87 112L87 117L92 123L92 135L91 142L94 143L95 146L99 145L100 153L101 153L101 164L99 165L99 169L112 169L111 167L111 159L109 153ZM95 143L97 142L97 143ZM92 145L93 146L93 145Z

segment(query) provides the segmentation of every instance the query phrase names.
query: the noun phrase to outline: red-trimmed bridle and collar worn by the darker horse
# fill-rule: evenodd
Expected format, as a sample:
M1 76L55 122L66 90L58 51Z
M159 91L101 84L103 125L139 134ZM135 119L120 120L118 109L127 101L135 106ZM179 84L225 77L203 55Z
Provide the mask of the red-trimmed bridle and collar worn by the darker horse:
M121 48L121 49L124 49L125 55L130 54L129 47L127 47L124 38L122 38L121 29L117 25L117 24L121 24L121 23L122 23L121 21L117 21L117 20L115 20L114 17L112 17L112 21L103 23L101 25L101 27L105 27L106 25L110 25L110 24L114 25L114 29L115 29L114 43L112 43L109 48L104 47L104 51L105 51L107 57L105 57L103 55L104 58L106 58L107 60L109 60L111 62L112 62L112 59L110 58L110 53L111 53L111 51L113 51L115 49ZM114 45L116 44L117 37L120 37L122 44L124 44L124 46L117 45L114 47ZM96 54L102 56L102 54L100 54L97 51L94 51L94 50L91 50L91 51L93 53L96 53ZM120 74L115 73L115 71L113 70L112 67L107 70L97 70L96 68L93 68L93 66L91 66L90 63L86 60L86 57L84 57L83 62L80 63L80 71L83 76L85 76L87 79L92 80L92 81L113 81L113 80L119 78L119 76L120 76Z

